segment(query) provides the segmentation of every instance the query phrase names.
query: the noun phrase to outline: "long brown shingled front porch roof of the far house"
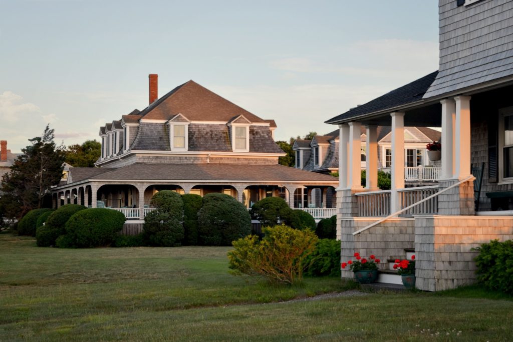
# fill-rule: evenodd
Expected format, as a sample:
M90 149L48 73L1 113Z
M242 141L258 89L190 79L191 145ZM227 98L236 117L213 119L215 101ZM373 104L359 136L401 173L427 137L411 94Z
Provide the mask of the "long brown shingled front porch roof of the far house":
M279 164L147 164L135 163L123 168L96 174L90 180L177 180L237 182L312 182L338 184L336 177L318 174Z

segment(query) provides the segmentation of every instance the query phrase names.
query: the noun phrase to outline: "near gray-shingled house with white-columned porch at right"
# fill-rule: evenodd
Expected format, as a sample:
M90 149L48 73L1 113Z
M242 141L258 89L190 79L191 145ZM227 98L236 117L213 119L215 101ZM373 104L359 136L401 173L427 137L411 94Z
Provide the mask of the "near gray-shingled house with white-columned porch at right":
M342 260L355 251L393 260L413 248L417 288L440 291L475 281L473 247L513 238L512 17L511 0L439 0L440 69L327 121L339 125L347 146L339 152L337 194ZM390 191L370 191L376 172L360 186L361 126L373 166L377 125L392 129ZM437 187L405 189L405 126L441 127ZM480 170L483 163L476 211L480 177L474 180L471 165Z

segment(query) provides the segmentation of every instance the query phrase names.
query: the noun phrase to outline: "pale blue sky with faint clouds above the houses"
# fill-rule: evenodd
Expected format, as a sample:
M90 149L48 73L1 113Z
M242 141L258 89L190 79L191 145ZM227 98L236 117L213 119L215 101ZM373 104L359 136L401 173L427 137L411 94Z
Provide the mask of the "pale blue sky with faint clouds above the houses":
M0 139L66 146L193 79L275 139L438 69L436 0L0 0Z

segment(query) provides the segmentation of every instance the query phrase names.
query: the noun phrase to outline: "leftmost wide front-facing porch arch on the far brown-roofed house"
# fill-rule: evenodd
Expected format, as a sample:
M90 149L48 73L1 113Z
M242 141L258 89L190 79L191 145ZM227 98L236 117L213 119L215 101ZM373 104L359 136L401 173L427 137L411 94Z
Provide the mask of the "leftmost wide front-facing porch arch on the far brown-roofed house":
M133 185L103 185L96 191L96 198L97 208L102 207L101 202L105 208L141 208L139 190Z

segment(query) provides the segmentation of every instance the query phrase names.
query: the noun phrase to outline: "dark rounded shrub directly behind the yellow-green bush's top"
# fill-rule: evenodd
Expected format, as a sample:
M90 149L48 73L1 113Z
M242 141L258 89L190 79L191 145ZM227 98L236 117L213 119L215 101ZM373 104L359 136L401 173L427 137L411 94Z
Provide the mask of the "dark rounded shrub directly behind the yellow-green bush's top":
M292 209L283 198L266 197L251 207L251 216L258 219L262 227L289 224L293 216Z

